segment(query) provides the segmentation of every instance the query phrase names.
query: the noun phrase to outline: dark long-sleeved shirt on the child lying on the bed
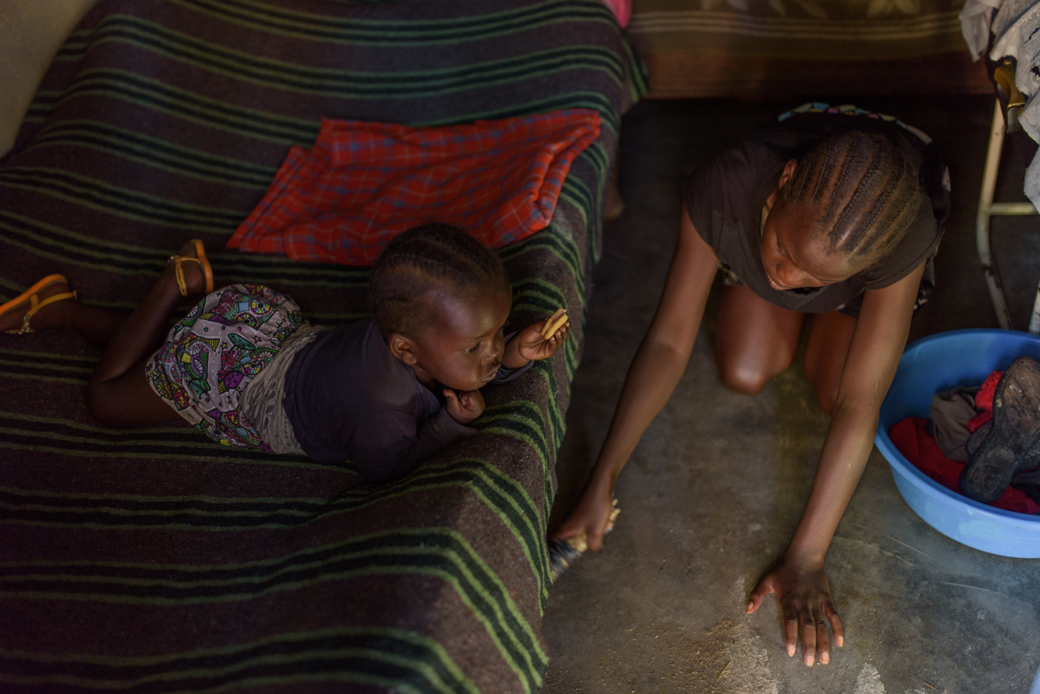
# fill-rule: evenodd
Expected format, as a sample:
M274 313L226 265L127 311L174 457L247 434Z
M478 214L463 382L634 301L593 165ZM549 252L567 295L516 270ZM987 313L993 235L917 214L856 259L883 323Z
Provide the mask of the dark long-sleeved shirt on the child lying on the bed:
M528 368L530 362L499 368L491 383ZM435 394L393 356L372 318L338 326L303 348L286 374L282 406L308 457L352 460L375 484L476 433L451 418L440 389Z

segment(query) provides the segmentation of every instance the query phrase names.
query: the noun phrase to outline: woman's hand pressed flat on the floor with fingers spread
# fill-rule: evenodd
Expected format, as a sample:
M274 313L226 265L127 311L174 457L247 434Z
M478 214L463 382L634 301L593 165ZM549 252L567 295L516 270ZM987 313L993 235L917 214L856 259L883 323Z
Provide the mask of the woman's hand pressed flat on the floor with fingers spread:
M755 590L751 592L748 614L757 610L770 593L776 593L780 602L787 654L795 654L801 632L805 664L812 666L817 650L820 662L829 663L831 640L827 634L827 622L830 621L831 628L834 629L834 641L839 646L844 645L844 633L841 631L841 619L831 600L831 585L824 567L782 559L759 580Z

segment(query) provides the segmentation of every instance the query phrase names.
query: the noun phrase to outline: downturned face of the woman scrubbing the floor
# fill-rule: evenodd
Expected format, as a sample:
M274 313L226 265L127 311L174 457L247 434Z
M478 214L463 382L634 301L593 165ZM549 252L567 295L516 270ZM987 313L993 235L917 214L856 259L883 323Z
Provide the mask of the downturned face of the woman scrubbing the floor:
M823 287L842 282L858 272L846 258L827 249L814 233L816 210L807 205L787 205L779 192L790 181L798 163L787 162L776 191L765 203L762 225L762 267L770 286L783 291L801 287Z

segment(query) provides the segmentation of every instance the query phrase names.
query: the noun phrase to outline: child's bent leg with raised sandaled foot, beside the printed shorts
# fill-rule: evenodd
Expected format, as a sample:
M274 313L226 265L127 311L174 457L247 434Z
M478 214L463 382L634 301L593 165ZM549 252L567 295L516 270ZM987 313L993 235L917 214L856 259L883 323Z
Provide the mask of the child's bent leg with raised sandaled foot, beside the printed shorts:
M194 257L187 243L179 255ZM197 263L184 263L188 290L202 291L204 280ZM170 318L181 301L174 263L145 300L119 327L108 342L86 387L86 406L95 419L107 427L149 427L180 417L155 394L145 376L145 362L170 332Z

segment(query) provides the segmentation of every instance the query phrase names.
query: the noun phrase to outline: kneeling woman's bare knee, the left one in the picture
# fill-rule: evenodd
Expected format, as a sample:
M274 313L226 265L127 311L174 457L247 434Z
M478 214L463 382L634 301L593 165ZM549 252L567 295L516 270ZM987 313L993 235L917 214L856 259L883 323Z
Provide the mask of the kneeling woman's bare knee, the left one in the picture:
M754 395L795 359L805 314L781 308L738 284L722 291L716 364L723 385Z

